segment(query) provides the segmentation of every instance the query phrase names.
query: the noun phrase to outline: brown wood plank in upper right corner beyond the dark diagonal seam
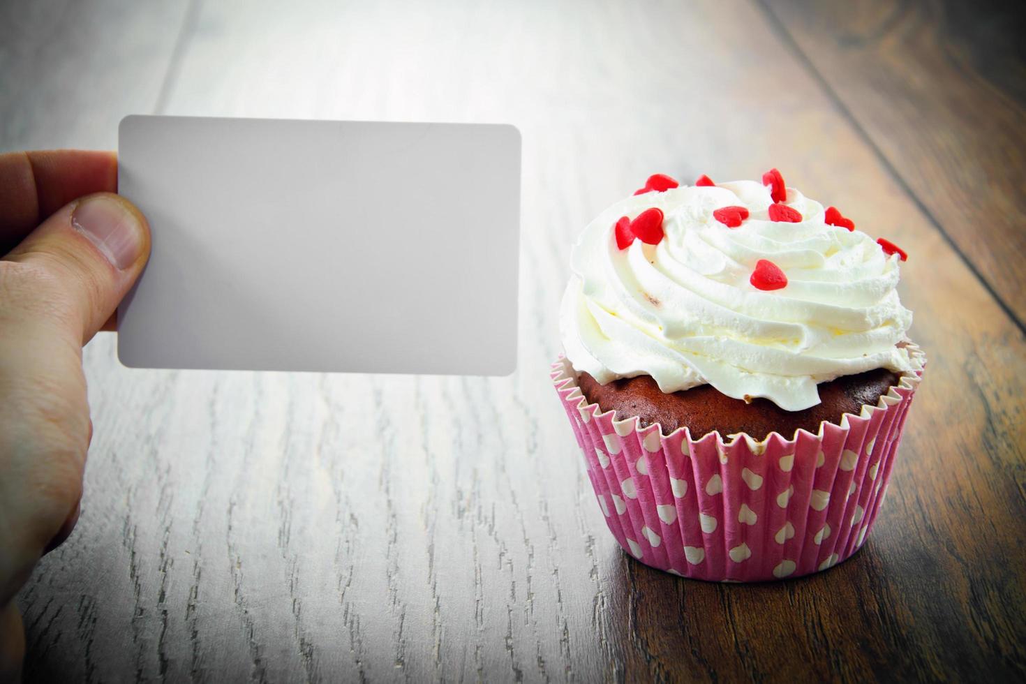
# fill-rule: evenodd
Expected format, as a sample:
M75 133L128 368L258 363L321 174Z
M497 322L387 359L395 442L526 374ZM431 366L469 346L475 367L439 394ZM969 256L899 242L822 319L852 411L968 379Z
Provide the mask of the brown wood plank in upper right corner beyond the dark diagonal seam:
M1026 322L1021 2L763 0L931 223Z

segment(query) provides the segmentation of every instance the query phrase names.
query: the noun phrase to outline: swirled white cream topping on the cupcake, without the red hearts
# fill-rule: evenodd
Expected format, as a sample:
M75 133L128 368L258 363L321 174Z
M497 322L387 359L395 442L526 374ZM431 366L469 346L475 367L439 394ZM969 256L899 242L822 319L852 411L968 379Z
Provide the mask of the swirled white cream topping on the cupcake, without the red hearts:
M792 188L800 223L770 220L770 189L753 180L680 187L614 204L574 245L560 309L566 357L600 384L650 375L665 393L712 385L736 399L765 397L796 411L820 403L816 386L874 368L917 367L904 348L897 255L870 236L827 225L824 208ZM746 207L727 228L713 210ZM665 237L619 249L614 224L662 209ZM787 286L749 281L759 259Z

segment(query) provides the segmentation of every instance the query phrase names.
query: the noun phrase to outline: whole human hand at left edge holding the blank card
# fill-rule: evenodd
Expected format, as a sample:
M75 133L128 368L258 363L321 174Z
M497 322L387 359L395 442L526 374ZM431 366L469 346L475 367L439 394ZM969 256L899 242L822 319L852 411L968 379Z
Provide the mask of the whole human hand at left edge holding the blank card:
M14 595L78 519L92 438L82 347L114 329L150 253L107 152L0 155L0 681L25 653Z

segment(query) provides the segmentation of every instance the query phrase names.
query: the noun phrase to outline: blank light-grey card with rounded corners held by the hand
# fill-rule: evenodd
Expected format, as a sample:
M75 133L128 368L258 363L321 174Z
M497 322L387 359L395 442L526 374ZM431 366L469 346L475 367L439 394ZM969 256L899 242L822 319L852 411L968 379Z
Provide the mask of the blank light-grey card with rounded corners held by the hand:
M128 116L118 147L153 236L123 364L514 370L513 126Z

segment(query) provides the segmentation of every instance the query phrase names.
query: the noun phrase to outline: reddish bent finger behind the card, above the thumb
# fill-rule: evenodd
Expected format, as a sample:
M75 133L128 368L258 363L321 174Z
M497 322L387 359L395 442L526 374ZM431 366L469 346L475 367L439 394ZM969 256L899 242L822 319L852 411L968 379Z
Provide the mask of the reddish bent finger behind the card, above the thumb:
M114 152L0 154L0 255L68 202L117 190L118 157Z

